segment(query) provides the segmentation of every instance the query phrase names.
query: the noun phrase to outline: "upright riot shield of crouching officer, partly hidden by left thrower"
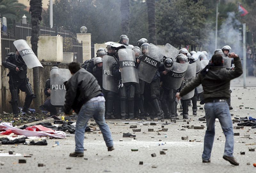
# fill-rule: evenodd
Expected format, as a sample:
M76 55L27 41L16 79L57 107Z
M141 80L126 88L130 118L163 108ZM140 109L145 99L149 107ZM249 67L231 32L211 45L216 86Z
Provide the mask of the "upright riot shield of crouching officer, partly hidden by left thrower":
M51 104L52 105L64 105L66 87L64 82L66 82L72 75L68 69L65 68L53 68L50 72L51 75Z

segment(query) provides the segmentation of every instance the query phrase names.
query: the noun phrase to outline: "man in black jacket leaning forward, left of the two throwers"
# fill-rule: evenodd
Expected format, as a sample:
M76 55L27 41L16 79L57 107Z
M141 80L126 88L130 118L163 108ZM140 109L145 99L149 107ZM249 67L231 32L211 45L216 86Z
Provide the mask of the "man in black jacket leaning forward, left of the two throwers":
M65 82L66 96L64 115L70 115L72 109L78 114L75 131L75 152L70 157L84 156L84 131L91 116L95 119L102 132L108 151L114 150L109 127L104 118L105 99L96 78L80 68L77 62L71 62L68 69L72 77Z

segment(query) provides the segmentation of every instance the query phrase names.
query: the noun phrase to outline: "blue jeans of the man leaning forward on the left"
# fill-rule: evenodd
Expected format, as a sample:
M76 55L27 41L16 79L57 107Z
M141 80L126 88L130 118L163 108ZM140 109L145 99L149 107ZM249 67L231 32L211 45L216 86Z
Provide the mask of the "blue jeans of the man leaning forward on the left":
M105 102L86 102L78 113L76 121L75 142L78 153L84 153L84 131L90 117L99 125L107 147L113 146L113 139L105 121Z

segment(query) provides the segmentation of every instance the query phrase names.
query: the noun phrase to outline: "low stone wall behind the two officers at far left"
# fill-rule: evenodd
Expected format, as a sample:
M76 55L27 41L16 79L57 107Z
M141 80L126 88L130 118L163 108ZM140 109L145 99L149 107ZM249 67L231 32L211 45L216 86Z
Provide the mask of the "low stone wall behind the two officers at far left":
M43 64L44 68L39 67L39 77L40 77L40 90L41 90L41 98L42 98L42 104L46 100L46 96L44 95L44 87L45 87L45 81L49 79L50 77L50 70L52 67L58 67L58 68L68 68L68 64ZM5 69L3 66L0 66L0 73L2 72L2 77L0 78L0 82L2 79L2 85L0 85L0 89L2 87L2 90L0 92L0 112L12 112L12 107L9 101L11 100L11 93L9 90L9 77L7 77L7 74L9 73L9 69ZM27 77L29 78L29 83L32 85L33 89L33 69L28 69ZM19 101L18 106L23 107L24 101L25 101L26 93L21 92L19 94ZM32 104L30 105L30 108L34 108L34 102L32 101Z

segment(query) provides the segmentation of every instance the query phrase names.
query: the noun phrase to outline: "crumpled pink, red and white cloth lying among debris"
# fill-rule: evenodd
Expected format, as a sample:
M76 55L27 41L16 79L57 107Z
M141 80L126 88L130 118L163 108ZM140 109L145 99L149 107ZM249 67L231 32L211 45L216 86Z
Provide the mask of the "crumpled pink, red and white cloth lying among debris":
M65 132L54 131L54 130L46 128L44 126L32 126L32 127L26 128L29 130L22 130L22 129L13 127L11 123L7 123L7 122L0 123L0 130L7 131L8 129L12 130L12 133L14 133L14 134L24 135L24 136L49 136L52 138L60 138L60 139L66 138ZM43 129L45 131L40 131L40 129ZM48 132L50 132L50 133L48 133Z

